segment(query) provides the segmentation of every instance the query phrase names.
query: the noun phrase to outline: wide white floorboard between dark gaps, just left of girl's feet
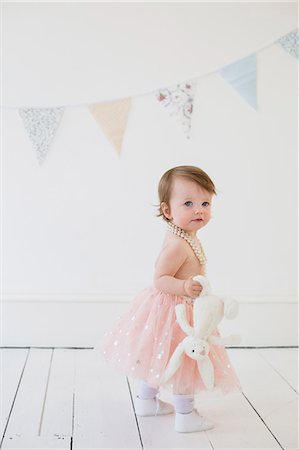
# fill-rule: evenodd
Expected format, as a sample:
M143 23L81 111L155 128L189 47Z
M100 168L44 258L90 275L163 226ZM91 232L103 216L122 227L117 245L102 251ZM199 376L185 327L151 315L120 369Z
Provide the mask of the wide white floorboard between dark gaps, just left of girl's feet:
M73 450L141 449L127 380L96 352L77 352Z

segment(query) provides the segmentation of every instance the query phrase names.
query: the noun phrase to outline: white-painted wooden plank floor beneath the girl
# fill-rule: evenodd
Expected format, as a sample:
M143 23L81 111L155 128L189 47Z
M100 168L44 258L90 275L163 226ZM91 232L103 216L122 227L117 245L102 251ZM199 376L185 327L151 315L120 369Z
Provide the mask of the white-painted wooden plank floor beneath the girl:
M1 448L298 449L297 349L228 351L243 392L203 395L215 429L179 434L173 415L137 418L136 381L92 349L2 348Z

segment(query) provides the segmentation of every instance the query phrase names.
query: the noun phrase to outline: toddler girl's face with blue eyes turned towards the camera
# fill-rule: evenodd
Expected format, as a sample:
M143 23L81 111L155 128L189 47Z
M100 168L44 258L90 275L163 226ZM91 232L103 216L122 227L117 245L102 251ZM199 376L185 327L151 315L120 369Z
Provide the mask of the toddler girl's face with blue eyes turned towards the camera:
M162 203L161 208L167 219L194 237L211 218L212 196L195 181L177 176L169 205Z

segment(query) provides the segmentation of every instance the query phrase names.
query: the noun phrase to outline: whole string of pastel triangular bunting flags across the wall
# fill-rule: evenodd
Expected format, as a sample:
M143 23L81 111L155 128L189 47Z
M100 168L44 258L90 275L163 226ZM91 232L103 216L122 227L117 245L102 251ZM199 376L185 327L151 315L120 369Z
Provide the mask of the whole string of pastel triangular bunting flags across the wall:
M272 44L279 44L289 55L299 59L298 30L291 31ZM217 71L218 75L254 110L257 110L257 53L258 51ZM156 89L155 91L140 94L139 96L155 95L156 100L180 124L186 137L189 139L197 83L200 78L207 75L209 74L202 74L196 79L183 81L175 86ZM120 155L131 103L132 98L127 97L115 101L97 102L89 105L66 106L88 107L107 140L115 148L118 155ZM33 144L36 157L40 164L46 159L50 144L53 141L66 106L52 108L7 107L7 109L19 110L24 127Z

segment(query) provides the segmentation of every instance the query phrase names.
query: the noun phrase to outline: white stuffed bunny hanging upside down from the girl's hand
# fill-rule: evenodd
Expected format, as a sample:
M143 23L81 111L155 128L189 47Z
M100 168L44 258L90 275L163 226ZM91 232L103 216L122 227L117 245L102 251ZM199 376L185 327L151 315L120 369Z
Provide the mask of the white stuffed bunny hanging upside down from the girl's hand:
M161 384L165 383L178 370L186 353L197 361L198 370L207 389L214 387L214 368L209 358L210 344L233 345L240 342L240 336L232 335L226 338L211 336L223 316L234 319L238 313L236 300L219 298L211 295L210 284L206 277L198 275L194 277L202 285L200 297L194 301L193 324L191 327L186 318L186 307L179 304L175 307L177 322L187 337L175 349L161 378Z

